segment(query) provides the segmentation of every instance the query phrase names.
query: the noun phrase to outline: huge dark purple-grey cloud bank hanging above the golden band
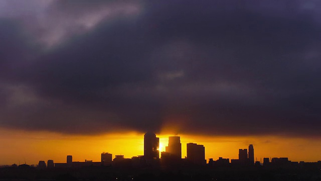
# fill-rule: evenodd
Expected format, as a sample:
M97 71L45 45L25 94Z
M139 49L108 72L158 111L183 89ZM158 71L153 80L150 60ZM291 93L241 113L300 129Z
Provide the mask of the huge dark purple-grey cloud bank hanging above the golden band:
M318 135L320 24L299 1L135 3L139 16L102 19L3 73L9 84L24 84L34 102L5 109L1 125L78 134L172 127ZM51 13L73 20L69 11L90 14L102 4L57 1ZM24 39L13 35L10 41ZM31 50L22 49L23 60ZM16 93L11 100L27 96Z

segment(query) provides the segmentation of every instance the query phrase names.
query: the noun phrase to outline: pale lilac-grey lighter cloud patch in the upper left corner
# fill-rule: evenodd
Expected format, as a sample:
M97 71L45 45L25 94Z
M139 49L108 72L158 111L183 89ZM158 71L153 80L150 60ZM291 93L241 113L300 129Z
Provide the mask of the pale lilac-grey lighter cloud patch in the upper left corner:
M90 31L102 21L135 17L140 6L137 1L5 0L0 3L0 17L22 22L38 43L51 48Z

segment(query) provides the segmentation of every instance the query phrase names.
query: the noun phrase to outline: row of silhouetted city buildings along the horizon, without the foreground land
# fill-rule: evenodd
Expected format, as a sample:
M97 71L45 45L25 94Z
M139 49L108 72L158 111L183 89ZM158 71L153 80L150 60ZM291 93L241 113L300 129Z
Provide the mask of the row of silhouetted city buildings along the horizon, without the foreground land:
M54 163L53 160L39 161L38 168L79 168L83 166L208 166L208 167L224 167L224 166L283 166L291 167L303 164L321 165L321 161L314 163L292 162L288 158L264 158L263 163L254 161L254 147L249 145L248 149L239 149L239 159L229 159L219 157L217 160L209 158L205 159L205 147L196 143L187 143L187 156L182 158L182 143L179 136L170 136L166 151L161 152L159 158L159 138L154 133L146 133L144 135L144 155L133 156L132 158L124 158L124 155L115 155L108 152L101 153L101 161L93 162L85 160L84 162L73 161L72 155L67 155L66 163ZM26 164L20 166L27 166Z

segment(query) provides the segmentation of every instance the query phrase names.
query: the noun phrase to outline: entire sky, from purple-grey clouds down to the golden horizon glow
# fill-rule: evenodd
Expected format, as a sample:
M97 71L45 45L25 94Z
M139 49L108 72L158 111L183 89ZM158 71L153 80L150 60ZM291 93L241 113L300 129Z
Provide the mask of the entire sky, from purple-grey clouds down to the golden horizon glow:
M320 160L320 9L317 0L2 0L0 164L17 162L20 145L33 163L50 159L37 157L49 143L73 145L51 151L65 160L75 140L90 142L83 159L94 148L124 154L132 138L130 157L147 131L164 144L181 135L208 145L207 158L230 148L237 158L253 143L262 157Z

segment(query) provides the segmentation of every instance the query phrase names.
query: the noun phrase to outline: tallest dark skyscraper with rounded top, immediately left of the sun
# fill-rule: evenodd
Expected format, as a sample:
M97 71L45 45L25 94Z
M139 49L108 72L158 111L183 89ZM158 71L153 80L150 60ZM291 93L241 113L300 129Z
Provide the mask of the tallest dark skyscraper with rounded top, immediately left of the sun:
M154 133L146 133L144 135L144 158L158 159L159 158L159 138Z

